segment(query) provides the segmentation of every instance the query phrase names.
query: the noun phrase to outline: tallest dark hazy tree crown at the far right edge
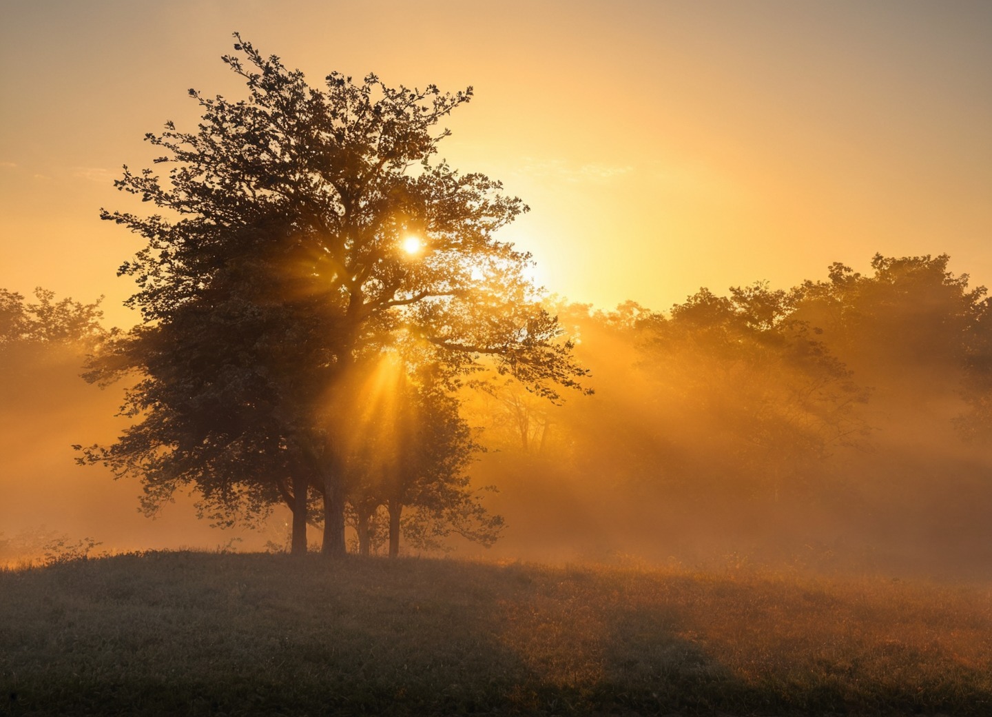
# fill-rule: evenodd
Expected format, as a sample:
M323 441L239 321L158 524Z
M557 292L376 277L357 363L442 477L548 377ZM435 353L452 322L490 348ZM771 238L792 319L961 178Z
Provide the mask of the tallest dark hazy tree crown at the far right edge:
M980 439L992 426L989 299L967 274L949 271L949 260L876 254L869 275L833 264L828 281L799 288L798 313L898 414L956 413L960 435Z

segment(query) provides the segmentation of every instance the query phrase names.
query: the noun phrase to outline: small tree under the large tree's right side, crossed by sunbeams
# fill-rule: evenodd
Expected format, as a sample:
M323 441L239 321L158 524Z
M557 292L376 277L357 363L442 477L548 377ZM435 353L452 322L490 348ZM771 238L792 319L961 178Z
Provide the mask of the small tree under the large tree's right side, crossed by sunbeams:
M481 505L467 475L480 446L460 415L457 377L425 358L416 351L379 358L356 371L347 395L333 401L348 416L334 441L345 456L362 554L370 552L377 530L388 534L395 557L401 533L414 535L422 548L452 532L491 544L502 525ZM405 508L414 511L407 520Z

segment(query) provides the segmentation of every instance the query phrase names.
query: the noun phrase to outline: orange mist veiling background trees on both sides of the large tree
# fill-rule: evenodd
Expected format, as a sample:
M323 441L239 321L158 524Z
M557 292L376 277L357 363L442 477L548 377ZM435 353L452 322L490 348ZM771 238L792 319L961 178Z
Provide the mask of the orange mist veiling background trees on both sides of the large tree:
M505 528L488 548L453 536L402 552L987 577L987 303L946 263L876 257L865 276L835 264L788 290L702 289L665 312L558 300L594 393L553 402L495 375L488 391L463 388L484 448L467 470ZM74 444L113 441L130 420L115 416L120 386L80 378L105 333L90 320L60 337L8 330L0 345L0 558L60 536L109 552L285 549L284 507L217 529L178 492L149 516L140 483L75 465Z

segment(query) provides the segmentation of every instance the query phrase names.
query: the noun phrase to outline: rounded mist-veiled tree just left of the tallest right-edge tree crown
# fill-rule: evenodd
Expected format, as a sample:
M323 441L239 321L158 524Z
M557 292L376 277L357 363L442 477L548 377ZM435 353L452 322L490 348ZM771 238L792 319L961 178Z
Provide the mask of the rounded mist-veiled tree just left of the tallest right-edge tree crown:
M728 297L702 289L669 318L656 317L643 345L646 364L658 362L656 374L686 409L707 416L720 452L750 466L776 497L868 432L856 410L868 391L795 317L794 302L764 284L731 288Z

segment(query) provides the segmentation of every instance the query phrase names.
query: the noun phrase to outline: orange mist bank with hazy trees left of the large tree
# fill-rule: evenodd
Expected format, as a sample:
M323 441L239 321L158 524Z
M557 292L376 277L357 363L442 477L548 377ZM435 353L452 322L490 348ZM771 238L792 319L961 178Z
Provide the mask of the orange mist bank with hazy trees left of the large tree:
M73 445L110 442L129 421L116 415L123 385L101 388L81 377L106 334L101 320L98 302L56 301L51 291L32 301L0 290L0 564L38 559L60 540L92 538L98 552L261 549L283 540L278 519L261 530L213 529L196 519L195 497L182 493L146 516L139 483L76 465Z

